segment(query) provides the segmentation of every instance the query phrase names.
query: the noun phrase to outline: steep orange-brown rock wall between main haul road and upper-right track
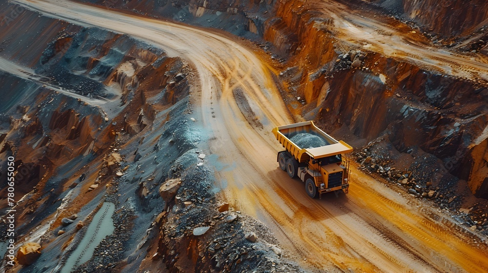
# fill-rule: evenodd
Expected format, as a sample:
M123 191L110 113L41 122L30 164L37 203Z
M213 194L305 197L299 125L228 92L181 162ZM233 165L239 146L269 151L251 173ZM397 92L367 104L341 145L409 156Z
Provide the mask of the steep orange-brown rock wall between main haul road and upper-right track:
M484 160L484 152L479 151L486 150L488 89L484 84L442 75L358 45L338 44L327 32L326 21L314 18L310 23L318 15L292 4L283 5L277 14L294 15L284 16L281 32L296 33L300 51L295 51L296 66L284 76L299 86L294 97L305 98L303 106L296 108L305 119L321 121L329 130L345 129L363 139L358 143L386 134L399 152L418 147L444 163L446 168L435 172L468 181L474 194L485 196L480 189L486 171L475 163ZM321 46L313 46L317 44Z

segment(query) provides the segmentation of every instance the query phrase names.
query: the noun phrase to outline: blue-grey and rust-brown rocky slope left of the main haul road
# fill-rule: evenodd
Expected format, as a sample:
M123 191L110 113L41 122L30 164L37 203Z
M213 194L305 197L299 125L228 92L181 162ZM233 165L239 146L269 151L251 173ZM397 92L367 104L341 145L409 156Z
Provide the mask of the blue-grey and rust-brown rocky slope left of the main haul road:
M2 272L301 271L260 223L219 211L196 149L192 67L125 35L0 6L11 19L0 26L0 171L9 156L17 170L16 233L2 198L0 243L15 239L19 253ZM7 196L7 176L0 185Z

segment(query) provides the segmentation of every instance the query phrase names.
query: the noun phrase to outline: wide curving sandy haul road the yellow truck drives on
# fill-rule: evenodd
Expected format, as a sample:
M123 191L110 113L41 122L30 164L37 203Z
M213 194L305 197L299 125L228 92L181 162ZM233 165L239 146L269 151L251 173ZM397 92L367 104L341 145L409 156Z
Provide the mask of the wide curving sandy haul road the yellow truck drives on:
M257 54L234 40L64 0L15 2L50 17L152 41L170 55L191 61L200 77L199 119L210 132L209 159L225 197L267 224L286 255L311 271L488 270L486 244L473 242L474 236L455 228L449 218L356 169L349 195L310 199L303 184L290 179L276 163L281 147L270 130L291 120L270 72ZM235 88L244 90L257 119L249 117L249 111L244 117L245 101L234 99Z

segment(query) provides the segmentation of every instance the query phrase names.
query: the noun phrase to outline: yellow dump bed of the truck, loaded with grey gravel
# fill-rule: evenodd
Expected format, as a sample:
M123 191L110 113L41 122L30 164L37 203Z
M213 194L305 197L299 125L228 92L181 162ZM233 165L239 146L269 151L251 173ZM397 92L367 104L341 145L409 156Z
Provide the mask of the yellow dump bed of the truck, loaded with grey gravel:
M337 141L333 137L325 134L324 131L313 124L313 121L278 126L272 132L276 139L285 147L286 151L293 155L298 162L305 162L311 157L319 159L325 156L335 156L352 152L352 147L347 145L346 142L342 140ZM310 142L312 144L323 143L325 145L319 147L313 145L312 147L300 147L290 140L290 138L294 138L296 142L299 142L303 137L317 140Z

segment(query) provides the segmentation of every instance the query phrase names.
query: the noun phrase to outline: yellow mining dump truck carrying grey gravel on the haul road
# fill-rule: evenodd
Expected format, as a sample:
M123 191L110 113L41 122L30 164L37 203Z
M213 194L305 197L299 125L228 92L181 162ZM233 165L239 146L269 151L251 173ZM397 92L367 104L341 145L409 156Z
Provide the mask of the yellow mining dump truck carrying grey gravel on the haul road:
M286 151L278 153L278 163L292 178L305 182L312 197L349 188L349 161L341 154L352 152L344 141L337 141L317 128L312 121L278 126L272 130Z

